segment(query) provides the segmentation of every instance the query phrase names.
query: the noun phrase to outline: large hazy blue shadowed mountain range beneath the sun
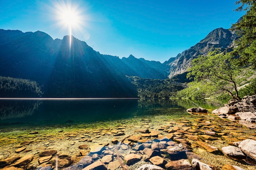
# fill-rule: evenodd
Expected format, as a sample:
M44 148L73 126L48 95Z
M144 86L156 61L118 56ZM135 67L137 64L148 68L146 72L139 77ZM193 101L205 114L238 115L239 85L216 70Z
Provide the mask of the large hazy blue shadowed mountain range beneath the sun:
M36 81L43 97L137 97L127 76L167 77L160 62L102 55L73 36L2 29L0 36L0 75Z

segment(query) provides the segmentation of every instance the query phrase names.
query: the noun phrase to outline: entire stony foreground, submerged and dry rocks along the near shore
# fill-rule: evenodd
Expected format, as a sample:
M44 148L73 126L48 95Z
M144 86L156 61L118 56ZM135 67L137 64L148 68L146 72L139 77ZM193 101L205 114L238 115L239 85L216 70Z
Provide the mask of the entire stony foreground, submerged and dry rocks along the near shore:
M155 116L76 130L13 131L0 136L0 168L255 170L255 129L238 121L210 111L175 120Z

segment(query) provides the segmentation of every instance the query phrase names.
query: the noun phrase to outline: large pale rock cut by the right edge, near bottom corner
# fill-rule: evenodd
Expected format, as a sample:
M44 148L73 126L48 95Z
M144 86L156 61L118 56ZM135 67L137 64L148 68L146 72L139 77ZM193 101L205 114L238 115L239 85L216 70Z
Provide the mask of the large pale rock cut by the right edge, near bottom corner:
M238 145L247 156L256 160L256 141L253 139L246 139L240 142Z

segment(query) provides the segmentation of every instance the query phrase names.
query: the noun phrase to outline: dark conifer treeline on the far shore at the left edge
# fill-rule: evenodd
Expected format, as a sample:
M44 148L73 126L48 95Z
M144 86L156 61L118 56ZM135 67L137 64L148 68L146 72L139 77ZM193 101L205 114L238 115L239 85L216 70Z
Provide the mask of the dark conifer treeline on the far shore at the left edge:
M0 76L0 97L41 97L42 86L29 79Z

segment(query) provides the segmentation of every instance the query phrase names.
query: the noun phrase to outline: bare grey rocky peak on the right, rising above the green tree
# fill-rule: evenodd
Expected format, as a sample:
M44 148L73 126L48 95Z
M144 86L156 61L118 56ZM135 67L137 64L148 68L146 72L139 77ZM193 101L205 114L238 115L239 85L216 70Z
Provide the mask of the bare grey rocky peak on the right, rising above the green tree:
M211 31L203 40L192 46L190 49L178 54L175 59L171 58L165 62L169 66L169 75L171 78L174 75L182 74L188 71L191 67L191 61L198 55L207 55L209 51L220 49L225 51L231 49L237 35L229 29L218 28Z

